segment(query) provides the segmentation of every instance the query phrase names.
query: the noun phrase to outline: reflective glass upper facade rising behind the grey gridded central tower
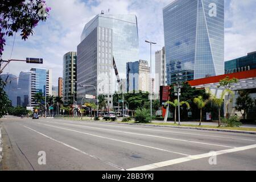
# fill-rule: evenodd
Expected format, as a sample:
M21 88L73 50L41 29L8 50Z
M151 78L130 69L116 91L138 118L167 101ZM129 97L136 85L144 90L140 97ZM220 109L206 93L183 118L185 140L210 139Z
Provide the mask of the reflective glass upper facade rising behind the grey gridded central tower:
M125 78L126 63L139 60L137 17L135 15L97 15L86 24L81 41L96 27L110 28L113 31L113 56L119 75Z

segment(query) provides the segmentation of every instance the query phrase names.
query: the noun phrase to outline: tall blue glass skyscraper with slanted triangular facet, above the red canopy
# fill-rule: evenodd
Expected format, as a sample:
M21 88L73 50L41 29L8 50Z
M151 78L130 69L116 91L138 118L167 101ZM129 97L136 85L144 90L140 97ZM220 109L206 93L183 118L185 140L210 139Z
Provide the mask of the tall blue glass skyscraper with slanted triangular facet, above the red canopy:
M176 0L163 22L168 84L224 74L224 0Z

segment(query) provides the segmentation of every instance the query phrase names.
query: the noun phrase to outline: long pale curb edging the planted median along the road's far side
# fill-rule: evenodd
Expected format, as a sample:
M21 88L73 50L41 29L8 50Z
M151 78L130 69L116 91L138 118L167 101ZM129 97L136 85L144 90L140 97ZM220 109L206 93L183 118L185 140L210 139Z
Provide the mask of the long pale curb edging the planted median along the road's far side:
M56 118L60 119L60 118ZM65 119L69 121L78 121L72 119ZM84 121L79 121L84 122ZM167 125L150 125L150 124L143 124L143 123L120 123L120 122L102 122L102 121L85 121L85 122L98 122L98 123L115 123L121 125L137 125L137 126L155 126L155 127L171 127L176 129L193 129L193 130L203 130L203 131L220 131L225 133L240 133L240 134L251 134L256 135L256 131L240 131L240 130L225 130L225 129L209 129L205 127L189 127L189 126L167 126Z

